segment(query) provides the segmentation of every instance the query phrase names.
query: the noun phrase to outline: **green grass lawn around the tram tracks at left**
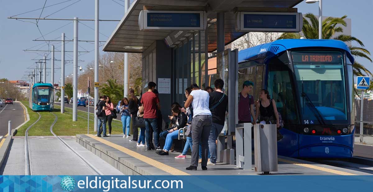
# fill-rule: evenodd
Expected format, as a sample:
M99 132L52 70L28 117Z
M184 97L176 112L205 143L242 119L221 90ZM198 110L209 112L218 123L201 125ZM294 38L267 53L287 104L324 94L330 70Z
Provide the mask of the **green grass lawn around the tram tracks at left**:
M27 101L22 101L23 105L28 107ZM70 113L68 113L70 112ZM54 122L54 113L57 115L57 122L53 126L53 132L57 135L76 135L76 134L87 134L87 120L81 117L78 117L77 121L72 121L72 109L65 108L65 113L61 114L60 106L54 105L54 110L52 112L39 112L41 115L40 120L34 126L32 126L29 131L29 136L51 136L49 129L52 123ZM37 112L32 111L28 108L28 114L30 116L30 121L18 129L16 136L25 136L26 129L33 124L38 118L39 115ZM87 112L78 111L78 115L87 118ZM90 115L90 134L96 134L94 132L94 115ZM107 126L106 126L107 127ZM107 133L109 128L107 127ZM121 134L122 131L122 122L113 121L112 122L112 134Z

